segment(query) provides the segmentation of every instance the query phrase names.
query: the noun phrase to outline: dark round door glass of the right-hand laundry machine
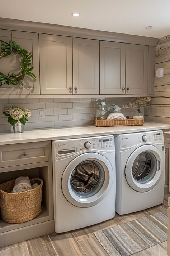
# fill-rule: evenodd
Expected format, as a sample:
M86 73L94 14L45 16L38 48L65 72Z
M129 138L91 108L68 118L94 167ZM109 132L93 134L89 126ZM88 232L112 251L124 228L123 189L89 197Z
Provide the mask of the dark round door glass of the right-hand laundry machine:
M157 160L151 152L142 152L134 160L132 166L133 178L139 183L146 183L155 176Z

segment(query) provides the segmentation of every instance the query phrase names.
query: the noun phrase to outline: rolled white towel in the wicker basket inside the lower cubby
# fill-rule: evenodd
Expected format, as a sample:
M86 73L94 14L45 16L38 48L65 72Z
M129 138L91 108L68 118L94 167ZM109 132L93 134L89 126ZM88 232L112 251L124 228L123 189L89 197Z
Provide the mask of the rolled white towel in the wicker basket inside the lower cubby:
M30 189L31 189L31 183L30 183L29 177L20 176L15 180L15 184L12 192L19 193L19 192L27 191Z

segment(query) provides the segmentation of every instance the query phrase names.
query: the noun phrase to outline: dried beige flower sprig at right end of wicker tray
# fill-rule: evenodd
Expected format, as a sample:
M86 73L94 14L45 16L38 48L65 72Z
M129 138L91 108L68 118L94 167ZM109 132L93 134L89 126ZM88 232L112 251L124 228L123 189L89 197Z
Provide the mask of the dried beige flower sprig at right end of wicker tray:
M129 101L128 104L123 105L123 109L128 109L128 108L137 108L137 112L141 113L140 107L144 108L149 108L150 105L147 104L147 102L150 102L151 97L137 97L133 98L131 101Z

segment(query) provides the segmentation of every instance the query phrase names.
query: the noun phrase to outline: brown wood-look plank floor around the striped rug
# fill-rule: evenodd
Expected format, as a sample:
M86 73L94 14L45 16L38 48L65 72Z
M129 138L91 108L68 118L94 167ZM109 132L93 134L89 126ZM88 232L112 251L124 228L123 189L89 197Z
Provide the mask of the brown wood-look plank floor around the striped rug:
M164 197L164 203L133 214L120 216L104 221L87 228L48 234L0 248L0 256L108 256L100 245L94 232L115 225L126 223L149 214L167 209L167 200L170 194ZM167 241L138 252L133 256L167 256Z

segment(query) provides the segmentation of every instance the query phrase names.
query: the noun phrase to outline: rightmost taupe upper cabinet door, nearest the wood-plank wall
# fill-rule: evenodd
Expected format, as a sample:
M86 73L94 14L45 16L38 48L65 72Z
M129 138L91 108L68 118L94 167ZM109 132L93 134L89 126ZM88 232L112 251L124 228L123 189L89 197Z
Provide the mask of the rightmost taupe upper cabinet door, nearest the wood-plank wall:
M126 94L147 94L148 46L126 44Z

